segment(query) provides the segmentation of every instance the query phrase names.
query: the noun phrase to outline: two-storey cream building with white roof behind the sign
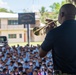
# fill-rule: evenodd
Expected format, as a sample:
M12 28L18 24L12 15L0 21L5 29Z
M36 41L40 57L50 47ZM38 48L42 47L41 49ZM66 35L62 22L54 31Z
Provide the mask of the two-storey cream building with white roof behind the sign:
M36 23L30 25L30 41L43 41L45 35L36 36L33 33L33 28L41 24L37 13L35 19ZM0 36L7 36L10 43L27 42L27 26L24 28L24 24L18 24L18 14L0 12Z

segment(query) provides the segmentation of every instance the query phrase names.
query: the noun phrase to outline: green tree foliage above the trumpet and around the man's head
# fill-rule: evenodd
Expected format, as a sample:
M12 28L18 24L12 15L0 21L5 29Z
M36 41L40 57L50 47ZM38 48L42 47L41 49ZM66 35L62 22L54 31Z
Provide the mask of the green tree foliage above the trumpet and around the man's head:
M44 23L46 18L57 19L60 7L69 2L74 5L76 4L76 0L63 0L61 3L55 2L49 6L50 12L46 11L45 7L41 7L39 10L41 14L41 22Z

